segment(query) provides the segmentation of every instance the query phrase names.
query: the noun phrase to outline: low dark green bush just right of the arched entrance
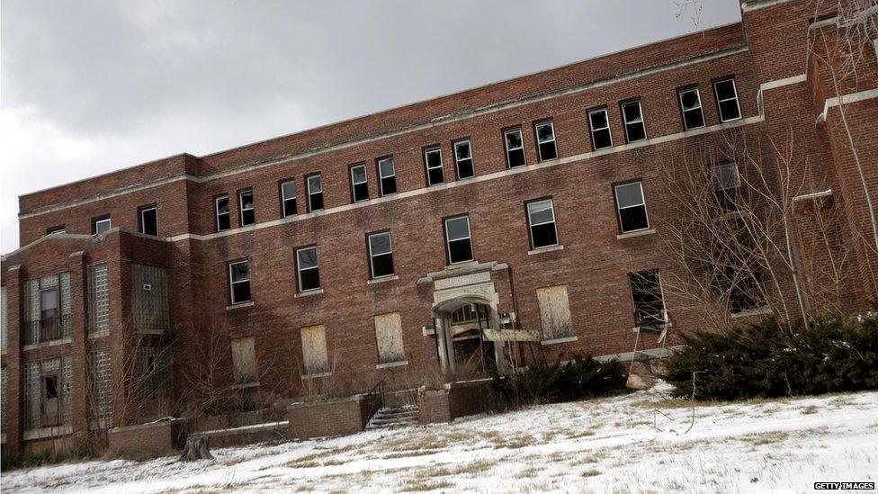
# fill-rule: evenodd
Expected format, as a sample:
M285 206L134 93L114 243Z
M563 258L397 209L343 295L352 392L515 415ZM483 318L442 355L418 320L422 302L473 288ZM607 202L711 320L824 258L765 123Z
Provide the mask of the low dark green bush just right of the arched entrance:
M494 374L494 388L506 400L519 404L578 400L622 387L624 376L616 363L598 362L591 355L554 363L544 358L506 375Z

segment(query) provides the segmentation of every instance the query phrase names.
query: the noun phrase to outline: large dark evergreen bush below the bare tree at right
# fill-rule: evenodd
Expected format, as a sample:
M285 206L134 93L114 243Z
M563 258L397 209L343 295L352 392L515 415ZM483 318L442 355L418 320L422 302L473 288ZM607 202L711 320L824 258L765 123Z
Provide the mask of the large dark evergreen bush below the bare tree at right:
M683 334L662 378L676 396L741 400L878 388L878 319L784 326L774 319L724 333Z

